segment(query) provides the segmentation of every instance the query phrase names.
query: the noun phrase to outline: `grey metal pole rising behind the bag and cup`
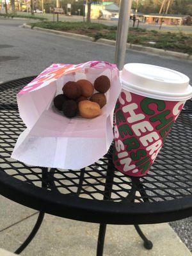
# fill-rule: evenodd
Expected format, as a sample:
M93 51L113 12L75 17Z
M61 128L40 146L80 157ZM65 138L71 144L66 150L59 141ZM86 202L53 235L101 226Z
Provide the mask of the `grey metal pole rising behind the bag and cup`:
M131 2L132 0L122 0L120 3L115 48L115 63L120 70L123 68L125 60Z

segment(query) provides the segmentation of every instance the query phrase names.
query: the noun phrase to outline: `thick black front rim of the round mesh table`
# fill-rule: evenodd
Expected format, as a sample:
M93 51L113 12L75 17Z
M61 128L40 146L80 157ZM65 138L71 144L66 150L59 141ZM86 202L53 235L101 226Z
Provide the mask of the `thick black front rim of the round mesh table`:
M192 216L192 196L190 195L164 202L145 203L92 200L47 191L10 177L1 170L0 194L37 211L93 223L152 224Z

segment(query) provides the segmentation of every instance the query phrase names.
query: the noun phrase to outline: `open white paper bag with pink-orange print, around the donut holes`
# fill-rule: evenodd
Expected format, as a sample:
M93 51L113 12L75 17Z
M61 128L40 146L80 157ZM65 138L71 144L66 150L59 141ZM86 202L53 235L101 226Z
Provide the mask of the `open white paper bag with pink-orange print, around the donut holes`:
M68 81L108 76L111 88L102 114L67 118L52 104ZM116 65L89 61L79 65L52 64L17 94L19 114L27 129L20 134L12 157L23 163L63 169L88 166L108 152L113 141L113 111L121 85Z

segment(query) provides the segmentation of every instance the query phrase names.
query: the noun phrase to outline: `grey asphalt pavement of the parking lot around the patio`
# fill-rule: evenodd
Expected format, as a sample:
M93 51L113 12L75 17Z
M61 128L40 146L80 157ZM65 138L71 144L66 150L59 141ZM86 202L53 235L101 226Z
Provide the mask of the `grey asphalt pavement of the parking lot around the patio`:
M24 20L0 19L0 83L35 76L52 63L114 61L115 47L20 28ZM127 50L125 62L140 62L173 68L192 79L192 62ZM180 239L192 251L192 218L171 223Z

